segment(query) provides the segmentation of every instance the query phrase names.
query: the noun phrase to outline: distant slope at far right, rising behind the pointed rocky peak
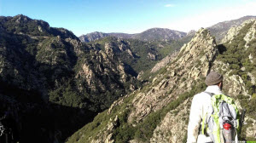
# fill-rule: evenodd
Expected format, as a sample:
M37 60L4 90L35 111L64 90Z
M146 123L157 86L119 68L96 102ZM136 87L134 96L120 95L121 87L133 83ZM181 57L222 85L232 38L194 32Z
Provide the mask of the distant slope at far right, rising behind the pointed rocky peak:
M226 20L207 27L207 29L211 32L212 36L216 38L216 41L220 42L232 26L240 26L242 22L250 19L256 19L256 16L244 16L236 20Z

